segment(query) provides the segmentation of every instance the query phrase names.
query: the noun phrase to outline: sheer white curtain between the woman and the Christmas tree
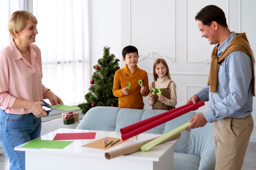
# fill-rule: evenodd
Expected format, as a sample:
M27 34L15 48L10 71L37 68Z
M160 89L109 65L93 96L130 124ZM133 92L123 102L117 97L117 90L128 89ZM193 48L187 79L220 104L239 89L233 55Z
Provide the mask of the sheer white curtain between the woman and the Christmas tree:
M89 0L33 0L43 84L65 105L84 102L90 82Z

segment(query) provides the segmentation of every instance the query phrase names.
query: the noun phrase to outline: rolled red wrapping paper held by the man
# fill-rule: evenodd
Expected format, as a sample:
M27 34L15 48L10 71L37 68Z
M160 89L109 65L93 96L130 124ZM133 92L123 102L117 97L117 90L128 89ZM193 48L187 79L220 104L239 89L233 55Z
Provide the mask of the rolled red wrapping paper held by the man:
M126 126L120 129L121 137L123 140L129 139L131 137L139 135L142 132L145 132L156 126L159 126L160 124L163 124L167 121L175 119L176 117L184 115L185 113L188 113L191 110L195 110L196 108L199 108L201 106L204 106L204 102L201 100L198 100L196 104L193 104L193 103L186 104L184 106L180 106L178 108L169 110L159 115L150 117L143 121L139 121L135 124Z

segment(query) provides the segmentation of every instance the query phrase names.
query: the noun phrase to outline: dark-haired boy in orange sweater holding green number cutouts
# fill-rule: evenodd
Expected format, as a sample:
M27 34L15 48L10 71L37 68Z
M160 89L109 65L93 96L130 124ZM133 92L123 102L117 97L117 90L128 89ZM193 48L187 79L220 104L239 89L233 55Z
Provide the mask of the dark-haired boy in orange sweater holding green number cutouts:
M113 84L113 94L118 97L119 108L143 109L142 96L149 93L148 73L138 68L138 49L126 46L122 51L126 66L116 71Z

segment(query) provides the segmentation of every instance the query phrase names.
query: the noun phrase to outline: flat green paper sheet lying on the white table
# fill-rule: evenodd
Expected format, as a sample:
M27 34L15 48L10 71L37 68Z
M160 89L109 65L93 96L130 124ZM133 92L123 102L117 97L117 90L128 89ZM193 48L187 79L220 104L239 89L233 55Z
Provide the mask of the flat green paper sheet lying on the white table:
M33 140L22 148L47 148L47 149L63 149L73 141L50 141L50 140Z

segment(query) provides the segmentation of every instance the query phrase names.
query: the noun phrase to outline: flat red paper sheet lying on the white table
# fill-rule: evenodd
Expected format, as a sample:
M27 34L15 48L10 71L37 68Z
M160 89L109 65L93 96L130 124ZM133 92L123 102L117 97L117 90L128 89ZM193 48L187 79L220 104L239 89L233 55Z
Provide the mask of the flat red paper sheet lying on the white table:
M53 140L95 139L96 132L57 133Z

